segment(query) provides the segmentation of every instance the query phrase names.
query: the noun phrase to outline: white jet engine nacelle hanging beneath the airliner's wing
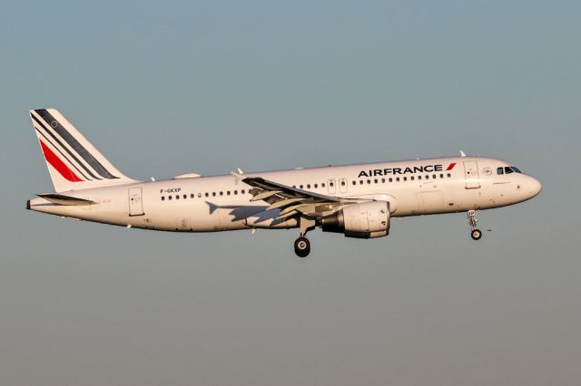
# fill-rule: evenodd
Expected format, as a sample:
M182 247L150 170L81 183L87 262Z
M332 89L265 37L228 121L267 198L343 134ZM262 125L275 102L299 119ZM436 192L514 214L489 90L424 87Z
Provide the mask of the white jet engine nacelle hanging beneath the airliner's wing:
M321 220L323 232L344 233L346 237L375 238L389 235L389 202L351 204Z

